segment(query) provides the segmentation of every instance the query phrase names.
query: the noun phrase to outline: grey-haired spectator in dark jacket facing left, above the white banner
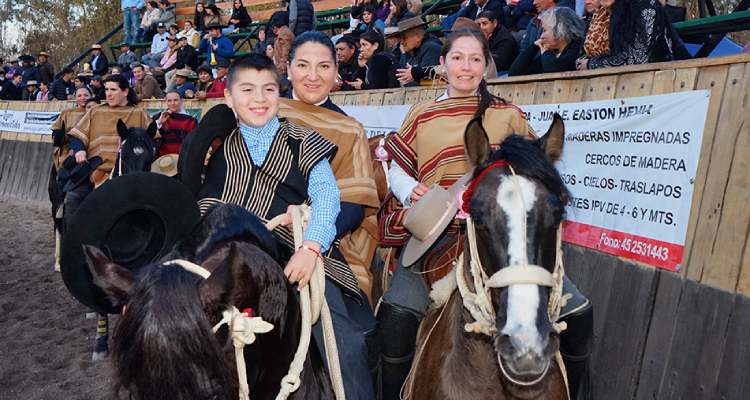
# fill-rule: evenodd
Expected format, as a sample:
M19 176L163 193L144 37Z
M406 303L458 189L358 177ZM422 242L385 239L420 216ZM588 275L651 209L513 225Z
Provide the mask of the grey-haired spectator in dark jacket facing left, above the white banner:
M575 71L585 36L583 20L568 7L552 8L539 17L542 36L518 55L508 75Z

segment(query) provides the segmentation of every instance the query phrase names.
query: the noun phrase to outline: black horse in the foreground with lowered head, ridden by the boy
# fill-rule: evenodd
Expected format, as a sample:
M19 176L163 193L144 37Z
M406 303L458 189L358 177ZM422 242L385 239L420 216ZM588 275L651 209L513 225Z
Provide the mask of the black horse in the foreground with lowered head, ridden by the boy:
M86 247L94 284L125 306L114 331L115 392L133 399L236 399L232 338L212 326L222 311L252 309L273 324L244 349L250 398L273 399L299 343L301 315L295 290L277 260L275 239L261 221L235 205L220 205L160 262L133 273ZM183 259L211 272L202 279L179 266ZM332 399L315 342L292 399Z

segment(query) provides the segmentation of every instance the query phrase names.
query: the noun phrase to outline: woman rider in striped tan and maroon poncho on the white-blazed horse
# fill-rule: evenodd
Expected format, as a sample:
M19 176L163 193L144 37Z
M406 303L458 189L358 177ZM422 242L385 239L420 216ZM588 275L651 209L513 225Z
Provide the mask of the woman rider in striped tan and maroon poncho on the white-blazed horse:
M400 247L409 233L402 222L408 208L419 201L429 186L449 187L466 174L471 166L464 153L463 135L468 122L483 117L490 143L501 143L509 135L533 138L524 113L516 106L489 93L483 78L490 57L487 40L476 30L451 33L441 51L440 63L447 72L448 88L435 100L414 105L397 135L391 135L386 150L392 157L389 181L391 192L401 206L385 211L379 224L381 244ZM429 297L422 271L434 270L453 261L460 253L462 227L451 225L437 243L413 265L397 262L390 288L383 296L378 311L382 355L383 399L398 399L401 386L409 372L419 322L429 306ZM446 259L450 258L450 259ZM579 305L573 319L591 317L588 301L574 292L569 306ZM577 295L577 296L576 296ZM566 307L567 308L567 307ZM564 314L563 314L564 315ZM583 326L566 317L573 325ZM564 331L562 343L566 343ZM586 336L576 337L585 347ZM565 348L562 349L565 353ZM580 355L579 353L570 355ZM580 358L580 357L579 357ZM585 357L584 364L585 364ZM567 360L566 360L567 364ZM571 387L577 380L571 375Z

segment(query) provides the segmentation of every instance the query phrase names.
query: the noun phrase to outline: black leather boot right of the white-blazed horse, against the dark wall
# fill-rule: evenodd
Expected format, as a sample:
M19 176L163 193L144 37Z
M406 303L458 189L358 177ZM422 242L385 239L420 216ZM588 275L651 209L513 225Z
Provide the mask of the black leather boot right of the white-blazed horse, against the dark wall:
M589 356L594 338L594 308L591 302L562 318L568 324L560 334L560 353L568 372L572 400L592 399Z

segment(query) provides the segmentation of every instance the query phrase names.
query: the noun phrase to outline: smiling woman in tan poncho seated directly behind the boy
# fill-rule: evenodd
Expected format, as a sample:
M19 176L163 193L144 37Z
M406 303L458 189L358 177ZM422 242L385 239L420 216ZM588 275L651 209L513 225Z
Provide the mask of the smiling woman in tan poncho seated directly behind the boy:
M378 358L374 350L376 322L367 298L372 287L370 263L378 242L375 214L380 201L372 176L372 161L364 129L329 97L338 74L336 60L336 49L323 33L310 31L296 37L289 51L287 68L291 83L287 96L296 101L283 102L279 114L292 122L315 129L338 147L331 161L341 193L336 238L340 242L341 253L366 295L359 300L347 297L346 302L350 317L357 325L358 332L353 334L364 334L367 347L371 350L369 367L374 370ZM344 370L343 373L349 372ZM362 382L361 386L372 381L364 376L359 376L357 380ZM367 393L364 388L358 390Z

